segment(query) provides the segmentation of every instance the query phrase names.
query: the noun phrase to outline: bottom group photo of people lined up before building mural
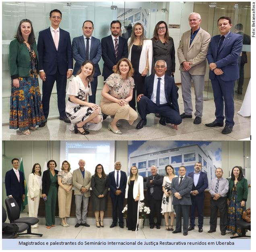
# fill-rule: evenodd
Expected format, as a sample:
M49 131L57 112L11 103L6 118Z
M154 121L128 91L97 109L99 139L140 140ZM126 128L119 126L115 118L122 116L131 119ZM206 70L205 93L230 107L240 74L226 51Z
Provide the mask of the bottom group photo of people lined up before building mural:
M250 238L250 144L2 141L2 238Z

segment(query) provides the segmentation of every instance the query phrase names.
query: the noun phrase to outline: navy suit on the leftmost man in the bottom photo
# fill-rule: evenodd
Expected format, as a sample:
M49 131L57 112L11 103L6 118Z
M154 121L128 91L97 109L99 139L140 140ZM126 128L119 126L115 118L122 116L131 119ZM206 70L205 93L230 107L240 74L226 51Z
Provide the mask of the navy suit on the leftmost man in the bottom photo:
M20 181L18 180L13 169L7 171L5 174L5 189L6 195L12 195L21 209L22 196L25 194L25 183L23 173L21 171L19 171L19 175Z

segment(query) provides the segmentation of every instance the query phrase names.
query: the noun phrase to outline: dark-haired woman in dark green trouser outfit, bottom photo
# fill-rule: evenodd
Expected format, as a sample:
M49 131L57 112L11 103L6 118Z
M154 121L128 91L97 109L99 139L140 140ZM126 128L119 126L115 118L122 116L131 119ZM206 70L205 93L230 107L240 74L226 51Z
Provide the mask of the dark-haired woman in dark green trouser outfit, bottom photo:
M57 164L54 160L47 162L47 171L43 172L42 198L45 201L45 226L55 227L55 209L58 195L58 171L55 170Z

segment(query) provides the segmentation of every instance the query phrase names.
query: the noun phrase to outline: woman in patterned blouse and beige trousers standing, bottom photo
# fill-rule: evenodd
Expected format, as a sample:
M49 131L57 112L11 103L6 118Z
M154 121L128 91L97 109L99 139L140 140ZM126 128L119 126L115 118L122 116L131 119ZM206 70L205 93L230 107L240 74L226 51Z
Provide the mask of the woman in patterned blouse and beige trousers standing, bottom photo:
M70 208L72 200L72 173L70 172L70 163L63 161L61 171L58 173L58 202L59 217L61 218L61 226L69 227L67 217L70 217Z

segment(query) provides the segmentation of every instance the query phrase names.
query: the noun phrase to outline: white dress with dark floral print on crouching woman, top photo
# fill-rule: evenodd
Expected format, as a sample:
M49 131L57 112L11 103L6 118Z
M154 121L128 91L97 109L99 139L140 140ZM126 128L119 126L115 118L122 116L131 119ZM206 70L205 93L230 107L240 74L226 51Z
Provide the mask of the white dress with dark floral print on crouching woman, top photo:
M83 84L83 81L77 75L69 81L67 95L75 96L81 101L87 101L87 95L91 96L91 83L88 81L87 88ZM74 124L78 122L83 122L93 113L93 109L90 107L79 105L74 102L71 102L68 98L68 102L66 104L66 115L71 121L70 130L73 130ZM101 115L101 111L100 111ZM102 116L101 116L102 118ZM101 119L102 121L102 119ZM101 122L98 124L95 123L87 123L86 128L89 130L99 130L101 128Z

